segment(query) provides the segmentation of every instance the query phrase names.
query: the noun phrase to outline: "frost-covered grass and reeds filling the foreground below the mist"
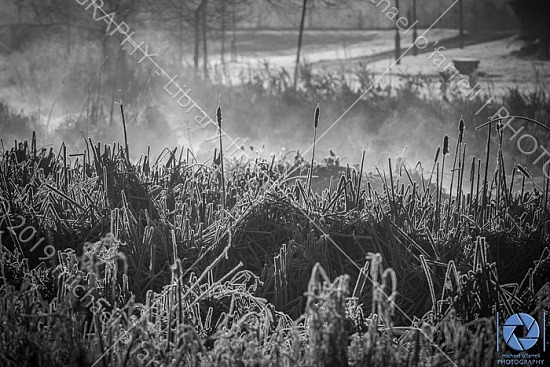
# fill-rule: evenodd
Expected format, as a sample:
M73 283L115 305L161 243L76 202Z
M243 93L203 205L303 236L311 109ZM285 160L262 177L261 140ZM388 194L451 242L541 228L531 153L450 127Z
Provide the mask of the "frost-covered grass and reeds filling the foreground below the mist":
M550 307L550 181L505 171L495 125L428 175L3 142L0 364L493 366L496 312Z

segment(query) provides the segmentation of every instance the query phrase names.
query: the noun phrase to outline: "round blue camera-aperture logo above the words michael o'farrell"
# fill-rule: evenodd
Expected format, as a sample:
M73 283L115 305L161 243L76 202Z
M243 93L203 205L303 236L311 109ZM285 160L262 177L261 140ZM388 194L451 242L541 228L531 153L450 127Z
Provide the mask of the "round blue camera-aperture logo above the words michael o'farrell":
M518 338L514 331L517 327L523 327L525 336ZM526 313L515 313L506 319L502 327L502 336L504 341L512 349L526 351L532 348L539 340L539 324L535 319Z

